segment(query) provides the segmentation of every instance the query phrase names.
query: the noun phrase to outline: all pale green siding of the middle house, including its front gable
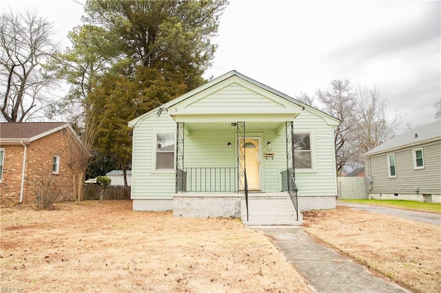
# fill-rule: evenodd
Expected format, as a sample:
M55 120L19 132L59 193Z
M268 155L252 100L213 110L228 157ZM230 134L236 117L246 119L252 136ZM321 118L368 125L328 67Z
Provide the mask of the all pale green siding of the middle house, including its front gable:
M294 119L294 132L309 134L312 168L296 170L299 195L336 195L332 126L336 121L308 107L302 111L302 107L279 94L232 76L174 105L164 106L166 111L160 116L152 111L132 121L132 199L173 198L174 170L156 170L155 166L157 134L176 135L176 121L169 113L178 121L190 121L185 131L184 168L236 168L237 134L231 123L245 121L247 117L247 137L260 139L260 187L263 192L279 192L282 189L280 173L287 169L283 125L286 117L294 119L301 111ZM203 118L205 122L196 118ZM267 142L271 142L271 146L267 146ZM274 158L265 158L265 151L274 153Z

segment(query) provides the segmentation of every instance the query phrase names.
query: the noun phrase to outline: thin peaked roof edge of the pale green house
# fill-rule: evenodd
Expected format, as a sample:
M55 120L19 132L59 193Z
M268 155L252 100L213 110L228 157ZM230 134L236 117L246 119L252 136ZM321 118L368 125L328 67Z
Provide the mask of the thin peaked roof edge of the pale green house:
M127 122L131 127L134 127L139 121L143 120L144 118L147 118L149 116L152 116L154 113L161 113L164 109L167 110L168 108L183 102L184 100L187 100L188 98L192 98L196 94L201 93L202 91L205 91L209 89L210 87L214 87L214 85L217 85L218 83L223 82L224 80L227 80L228 78L232 78L233 76L237 76L238 78L241 78L248 83L252 83L253 85L260 87L261 89L264 89L266 91L269 91L271 94L274 94L276 96L279 96L280 98L283 98L289 102L292 102L293 104L297 105L298 107L301 107L303 109L309 109L310 111L313 111L314 113L318 114L319 116L322 116L324 118L328 118L334 122L338 122L339 120L337 118L334 118L332 116L329 116L327 113L322 112L314 107L311 107L309 105L306 105L303 102L300 102L299 100L296 100L294 98L291 98L290 96L287 96L286 94L283 94L280 91L277 91L276 89L273 89L271 87L268 87L267 85L264 85L263 83L259 83L258 81L249 78L248 76L245 76L243 74L240 74L239 72L236 72L235 70L232 70L230 72L227 72L226 74L223 74L222 76L219 76L217 78L214 78L213 80L210 80L209 82L205 83L205 85L201 85L201 87L197 87L196 89L193 89L192 91L188 91L186 94L183 94L182 96L179 96L178 98L175 98L174 100L170 100L169 102L166 102L165 104L161 105L160 107L156 107L155 109L144 113L143 115L134 118L133 120L130 120Z

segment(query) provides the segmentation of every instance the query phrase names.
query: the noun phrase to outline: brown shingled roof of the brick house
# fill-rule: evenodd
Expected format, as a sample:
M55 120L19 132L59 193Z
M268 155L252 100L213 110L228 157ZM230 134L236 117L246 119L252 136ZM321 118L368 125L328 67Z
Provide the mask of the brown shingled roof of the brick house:
M1 144L19 144L43 138L63 128L70 128L66 122L1 122Z

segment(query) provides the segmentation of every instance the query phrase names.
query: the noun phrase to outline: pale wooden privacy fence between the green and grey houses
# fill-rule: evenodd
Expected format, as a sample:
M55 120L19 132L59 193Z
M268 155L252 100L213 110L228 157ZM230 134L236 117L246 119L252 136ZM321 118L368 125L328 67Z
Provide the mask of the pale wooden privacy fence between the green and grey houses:
M367 199L365 177L337 177L338 199Z

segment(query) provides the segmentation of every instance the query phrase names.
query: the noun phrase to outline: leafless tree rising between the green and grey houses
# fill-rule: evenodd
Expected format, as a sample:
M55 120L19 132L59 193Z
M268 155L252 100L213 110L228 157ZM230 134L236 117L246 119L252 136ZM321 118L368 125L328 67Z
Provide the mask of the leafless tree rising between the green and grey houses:
M335 132L336 172L345 165L362 166L361 155L391 138L402 123L402 115L388 117L386 100L378 85L352 87L349 80L333 80L331 91L316 91L322 111L340 120ZM299 98L298 98L299 99ZM300 100L314 101L305 94Z

